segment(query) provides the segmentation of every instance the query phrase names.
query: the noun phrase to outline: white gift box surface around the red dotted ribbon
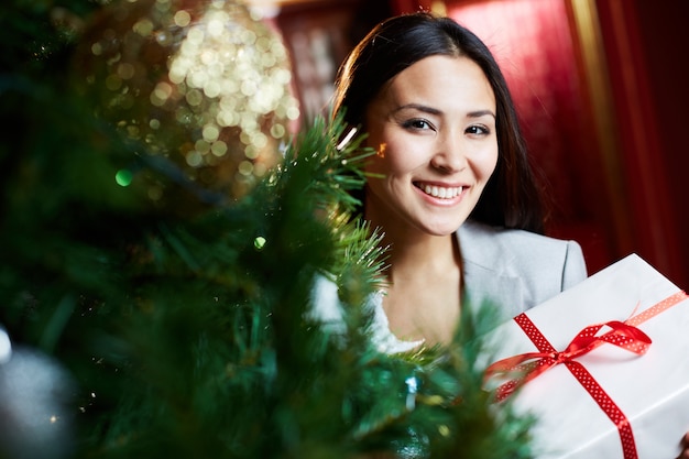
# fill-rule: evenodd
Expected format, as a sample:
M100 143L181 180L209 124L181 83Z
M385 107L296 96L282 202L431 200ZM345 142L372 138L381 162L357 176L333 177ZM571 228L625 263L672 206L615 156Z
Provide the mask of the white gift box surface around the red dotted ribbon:
M642 356L603 343L573 359L619 407L623 414L620 424L628 420L632 450L637 456L628 453L628 448L626 453L623 451L620 431L624 428L617 428L566 364L557 364L512 395L518 413L531 413L536 418L532 445L539 459L677 457L680 439L689 431L686 298L679 287L633 254L525 314L557 351L565 350L590 325L631 317L636 317L632 321L643 320L637 328L652 340ZM667 309L649 314L657 312L658 304ZM537 351L515 320L491 332L488 343L493 352L491 361Z

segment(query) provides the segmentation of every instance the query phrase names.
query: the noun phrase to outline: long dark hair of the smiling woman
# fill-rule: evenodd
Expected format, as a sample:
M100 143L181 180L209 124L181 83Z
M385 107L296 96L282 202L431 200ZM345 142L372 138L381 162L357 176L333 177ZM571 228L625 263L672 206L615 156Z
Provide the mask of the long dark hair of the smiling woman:
M505 78L485 44L449 18L419 12L378 24L338 72L333 112L364 125L381 88L416 62L434 55L464 56L485 74L496 101L497 166L471 218L493 226L544 232L544 207Z

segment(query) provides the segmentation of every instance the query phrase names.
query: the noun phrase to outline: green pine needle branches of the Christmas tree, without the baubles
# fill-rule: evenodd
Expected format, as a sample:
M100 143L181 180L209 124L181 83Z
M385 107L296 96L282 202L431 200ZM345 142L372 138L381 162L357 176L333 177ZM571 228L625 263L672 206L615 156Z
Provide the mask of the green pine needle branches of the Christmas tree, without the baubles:
M386 259L357 215L364 135L342 142L341 118L318 118L242 199L152 207L119 172L188 189L68 89L70 39L35 25L50 8L14 3L0 324L77 381L75 458L528 457L529 419L481 386L490 314L464 308L445 349L387 356L367 336ZM42 43L47 54L29 58ZM343 327L310 318L316 278L337 286Z

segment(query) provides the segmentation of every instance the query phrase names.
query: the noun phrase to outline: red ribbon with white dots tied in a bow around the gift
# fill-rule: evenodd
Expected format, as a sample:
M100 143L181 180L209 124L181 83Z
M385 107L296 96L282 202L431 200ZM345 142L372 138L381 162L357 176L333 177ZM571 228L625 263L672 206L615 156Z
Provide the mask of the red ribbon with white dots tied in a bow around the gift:
M611 320L605 324L588 326L582 329L561 352L558 352L553 345L550 345L525 314L520 314L514 320L536 346L538 352L527 352L500 360L486 369L485 378L491 378L494 374L514 373L515 371L520 373L517 378L497 387L495 398L501 401L510 396L517 387L537 378L548 369L564 363L617 427L624 458L636 459L636 445L628 419L603 387L601 387L598 381L593 379L591 373L573 359L590 352L605 342L643 356L648 349L648 346L650 346L650 338L636 328L636 326L686 298L687 294L685 292L678 292L624 323ZM598 332L603 327L610 327L611 330L598 336Z

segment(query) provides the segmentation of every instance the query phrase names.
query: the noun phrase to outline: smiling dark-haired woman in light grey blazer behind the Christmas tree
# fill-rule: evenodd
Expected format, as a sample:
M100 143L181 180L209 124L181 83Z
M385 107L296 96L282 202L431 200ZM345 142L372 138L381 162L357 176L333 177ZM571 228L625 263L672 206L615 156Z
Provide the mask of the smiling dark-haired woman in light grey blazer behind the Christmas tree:
M539 190L504 77L451 19L390 19L340 68L335 112L368 133L363 216L390 267L373 300L391 352L448 342L460 308L513 317L582 281L580 247L542 236Z

